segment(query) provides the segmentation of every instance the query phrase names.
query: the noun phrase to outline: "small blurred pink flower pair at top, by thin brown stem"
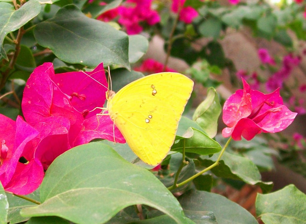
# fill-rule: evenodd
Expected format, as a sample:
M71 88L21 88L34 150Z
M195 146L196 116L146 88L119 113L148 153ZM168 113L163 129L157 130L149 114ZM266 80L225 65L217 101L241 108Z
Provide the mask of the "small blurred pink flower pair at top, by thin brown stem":
M199 13L191 6L184 7L185 1L186 0L173 0L171 10L174 13L177 13L179 11L179 7L181 7L179 20L189 24L192 23L194 18L199 16Z

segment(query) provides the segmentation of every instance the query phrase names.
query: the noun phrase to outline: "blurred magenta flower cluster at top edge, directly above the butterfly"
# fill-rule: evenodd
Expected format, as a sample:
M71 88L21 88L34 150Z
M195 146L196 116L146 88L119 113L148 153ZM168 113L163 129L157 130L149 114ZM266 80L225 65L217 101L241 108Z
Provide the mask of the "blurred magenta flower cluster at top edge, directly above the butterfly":
M152 0L128 0L125 6L118 7L118 23L126 28L129 35L138 34L143 30L140 23L152 26L159 23L157 11L151 9Z

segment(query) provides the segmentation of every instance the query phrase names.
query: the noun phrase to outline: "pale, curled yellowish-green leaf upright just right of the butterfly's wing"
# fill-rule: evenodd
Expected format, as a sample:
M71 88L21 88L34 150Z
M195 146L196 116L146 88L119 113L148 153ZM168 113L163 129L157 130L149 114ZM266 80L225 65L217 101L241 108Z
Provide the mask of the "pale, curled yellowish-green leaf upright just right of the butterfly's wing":
M217 91L211 87L207 90L206 99L196 108L192 120L199 124L210 138L214 138L221 111Z

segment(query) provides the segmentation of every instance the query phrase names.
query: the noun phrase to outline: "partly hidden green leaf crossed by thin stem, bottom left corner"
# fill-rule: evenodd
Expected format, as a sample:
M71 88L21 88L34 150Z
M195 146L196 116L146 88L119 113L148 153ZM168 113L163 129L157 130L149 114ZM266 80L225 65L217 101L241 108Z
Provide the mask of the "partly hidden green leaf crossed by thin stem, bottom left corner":
M19 222L27 221L30 217L23 217L20 215L22 208L35 206L36 204L24 200L20 197L14 196L10 193L7 193L7 200L9 201L9 216L7 221L10 224L15 224ZM39 190L34 191L31 194L26 195L29 198L39 201Z

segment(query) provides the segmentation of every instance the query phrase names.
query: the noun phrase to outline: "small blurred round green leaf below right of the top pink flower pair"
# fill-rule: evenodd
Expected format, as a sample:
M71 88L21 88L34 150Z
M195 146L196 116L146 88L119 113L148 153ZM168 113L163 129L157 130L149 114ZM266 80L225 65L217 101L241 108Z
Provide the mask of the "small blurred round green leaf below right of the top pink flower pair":
M217 39L220 35L222 24L216 18L209 18L199 26L199 32L205 37L213 37Z

